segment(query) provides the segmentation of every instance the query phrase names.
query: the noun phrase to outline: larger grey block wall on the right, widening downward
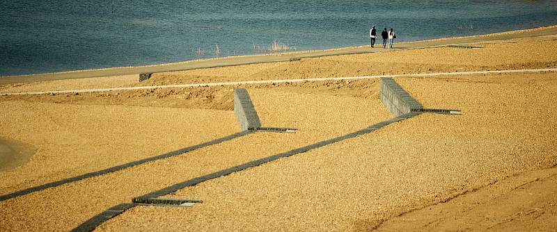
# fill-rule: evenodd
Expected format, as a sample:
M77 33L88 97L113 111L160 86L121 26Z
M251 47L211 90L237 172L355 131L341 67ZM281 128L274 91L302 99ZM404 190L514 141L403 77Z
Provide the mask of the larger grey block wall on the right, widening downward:
M393 78L381 78L379 84L381 102L398 117L410 113L412 109L421 109L423 106L410 96Z

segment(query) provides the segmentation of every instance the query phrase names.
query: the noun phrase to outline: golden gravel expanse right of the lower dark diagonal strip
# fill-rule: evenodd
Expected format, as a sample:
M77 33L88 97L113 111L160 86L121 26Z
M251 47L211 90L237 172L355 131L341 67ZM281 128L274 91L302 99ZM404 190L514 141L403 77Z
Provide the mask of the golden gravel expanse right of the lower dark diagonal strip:
M460 108L463 115L423 114L185 188L166 197L203 204L136 207L99 231L373 229L414 208L557 165L557 107L547 105L557 100L556 90L543 88L555 85L557 75L469 81L477 78L397 80L425 107ZM508 83L508 78L515 81Z

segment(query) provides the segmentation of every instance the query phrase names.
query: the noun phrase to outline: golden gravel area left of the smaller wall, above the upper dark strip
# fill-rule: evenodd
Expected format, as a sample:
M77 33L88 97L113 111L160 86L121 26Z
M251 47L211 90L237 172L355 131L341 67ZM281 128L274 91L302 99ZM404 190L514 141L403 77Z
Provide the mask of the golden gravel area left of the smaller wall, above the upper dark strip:
M0 101L0 136L30 144L29 163L0 175L0 194L236 133L222 110ZM221 124L215 124L218 121Z

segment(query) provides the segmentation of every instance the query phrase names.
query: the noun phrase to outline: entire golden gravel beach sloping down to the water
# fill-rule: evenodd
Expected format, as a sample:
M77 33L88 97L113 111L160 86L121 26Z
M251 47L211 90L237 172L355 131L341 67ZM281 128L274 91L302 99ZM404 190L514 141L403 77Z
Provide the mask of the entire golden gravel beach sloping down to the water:
M338 56L327 51L327 56L313 58L322 54L230 58L226 61L230 64L254 62L251 59L264 63L158 72L178 67L171 64L151 69L157 72L142 82L129 70L114 75L106 70L93 70L90 76L46 75L43 81L41 76L22 77L19 83L11 78L0 85L0 138L26 144L33 152L19 157L23 161L17 165L0 169L0 194L237 133L234 88L248 90L262 126L298 131L251 133L0 201L0 231L68 231L148 192L393 117L379 100L378 78L79 94L2 93L557 68L556 28L411 42L371 53L357 47L337 49ZM283 61L300 54L306 58ZM400 76L395 81L426 108L459 109L462 115L418 115L182 188L165 197L203 203L135 206L96 231L557 228L557 72ZM9 149L2 141L0 158Z

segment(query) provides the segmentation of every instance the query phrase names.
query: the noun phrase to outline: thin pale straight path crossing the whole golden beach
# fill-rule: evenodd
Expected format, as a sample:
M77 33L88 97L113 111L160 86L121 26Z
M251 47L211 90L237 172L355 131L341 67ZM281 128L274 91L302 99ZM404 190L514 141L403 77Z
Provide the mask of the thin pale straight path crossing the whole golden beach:
M152 86L137 86L137 87L121 87L121 88L104 88L104 89L84 89L84 90L52 90L40 92L11 92L0 93L1 95L24 95L24 94L68 94L77 92L108 92L108 91L121 91L121 90L153 90L162 88L191 88L191 87L208 87L208 86L223 86L223 85L249 85L249 84L271 84L271 83L297 83L304 81L346 81L346 80L359 80L359 79L372 79L382 77L411 77L411 76L461 76L461 75L475 75L475 74L508 74L508 73L521 73L521 72L557 72L557 68L552 69L508 69L508 70L493 70L493 71L473 71L473 72L437 72L425 74L393 74L393 75L379 75L379 76L347 76L347 77L326 77L326 78L307 78L307 79L290 79L290 80L267 80L267 81L237 81L237 82L220 82L220 83L197 83L197 84L180 84L180 85L152 85Z

